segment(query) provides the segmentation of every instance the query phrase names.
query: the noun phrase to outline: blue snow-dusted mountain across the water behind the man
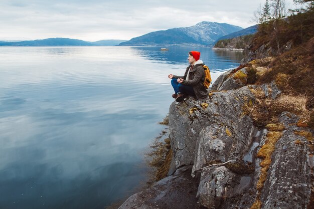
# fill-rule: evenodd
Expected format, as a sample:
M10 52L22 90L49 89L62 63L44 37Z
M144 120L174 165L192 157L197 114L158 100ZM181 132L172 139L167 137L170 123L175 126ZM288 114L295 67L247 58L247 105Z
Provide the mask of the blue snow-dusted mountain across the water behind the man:
M195 26L156 31L135 37L118 46L206 46L243 28L226 23L200 22Z

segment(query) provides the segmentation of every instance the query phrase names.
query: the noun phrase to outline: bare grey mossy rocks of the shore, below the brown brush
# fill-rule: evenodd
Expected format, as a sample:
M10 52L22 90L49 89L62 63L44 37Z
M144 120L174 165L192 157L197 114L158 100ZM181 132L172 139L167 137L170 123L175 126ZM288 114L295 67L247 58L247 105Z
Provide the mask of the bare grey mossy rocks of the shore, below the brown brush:
M257 103L256 92L275 100L281 91L274 83L246 85L247 68L238 71L246 76L222 74L206 103L189 97L171 104L168 177L132 195L120 209L309 208L312 141L299 133L313 131L299 127L300 118L289 112L280 115L280 124L257 127L247 111ZM264 149L273 138L265 166Z

